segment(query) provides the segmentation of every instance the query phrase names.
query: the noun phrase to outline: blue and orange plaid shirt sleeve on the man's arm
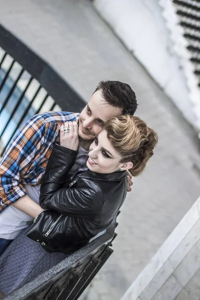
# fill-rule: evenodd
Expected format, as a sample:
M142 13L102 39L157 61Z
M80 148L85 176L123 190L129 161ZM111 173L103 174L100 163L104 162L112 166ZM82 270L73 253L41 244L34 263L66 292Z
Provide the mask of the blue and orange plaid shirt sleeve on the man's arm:
M43 117L35 115L9 144L0 161L0 210L26 194L20 178L28 171L31 157L39 152L45 129Z

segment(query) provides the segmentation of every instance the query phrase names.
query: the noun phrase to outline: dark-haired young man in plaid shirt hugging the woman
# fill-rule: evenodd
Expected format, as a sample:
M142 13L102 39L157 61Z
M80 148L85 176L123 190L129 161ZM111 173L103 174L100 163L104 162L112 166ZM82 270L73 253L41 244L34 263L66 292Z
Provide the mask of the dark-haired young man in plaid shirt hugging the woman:
M112 116L133 114L136 110L134 91L120 81L101 81L81 113L46 112L33 116L16 134L0 163L0 247L3 251L15 238L7 228L14 226L15 208L35 217L42 209L33 201L39 197L42 180L53 145L59 141L59 128L66 121L78 121L79 153L75 172L81 167L80 156L87 154L89 145L100 133L103 123ZM76 164L76 163L75 163ZM131 175L128 177L130 190ZM36 189L34 187L35 186ZM36 193L35 193L36 190ZM6 209L10 204L12 208ZM15 208L13 208L13 206ZM14 210L15 209L15 210ZM22 229L22 227L21 227ZM4 238L3 238L4 237Z

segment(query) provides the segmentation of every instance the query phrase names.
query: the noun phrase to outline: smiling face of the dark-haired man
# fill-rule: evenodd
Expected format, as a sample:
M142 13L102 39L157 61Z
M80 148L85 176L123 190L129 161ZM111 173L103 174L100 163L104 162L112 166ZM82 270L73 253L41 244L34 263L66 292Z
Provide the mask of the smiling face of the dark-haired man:
M83 140L94 140L105 121L112 116L121 114L121 109L109 105L101 96L101 91L95 91L79 117L78 135Z

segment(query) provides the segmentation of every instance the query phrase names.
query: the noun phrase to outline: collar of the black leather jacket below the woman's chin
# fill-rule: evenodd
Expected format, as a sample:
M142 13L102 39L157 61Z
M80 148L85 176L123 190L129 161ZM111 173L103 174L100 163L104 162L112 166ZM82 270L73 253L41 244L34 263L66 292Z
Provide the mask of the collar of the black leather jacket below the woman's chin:
M102 174L102 173L92 172L90 170L80 175L80 177L103 180L103 181L120 181L125 176L126 176L126 171L116 171L109 174Z

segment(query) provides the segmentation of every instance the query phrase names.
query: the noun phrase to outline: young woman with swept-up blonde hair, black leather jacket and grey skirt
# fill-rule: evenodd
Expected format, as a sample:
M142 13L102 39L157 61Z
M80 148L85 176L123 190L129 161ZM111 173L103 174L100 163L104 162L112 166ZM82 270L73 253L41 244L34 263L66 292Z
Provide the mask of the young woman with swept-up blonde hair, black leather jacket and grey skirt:
M54 145L40 188L42 208L39 206L40 213L26 233L31 239L21 232L0 257L0 290L5 294L106 229L125 199L126 170L139 175L157 143L155 131L140 118L113 117L90 145L88 155L82 156L85 168L71 176L69 169L79 143L77 130L73 122L60 127L60 144ZM17 214L12 217L16 225ZM22 219L26 220L25 214L20 216L19 225ZM15 278L10 277L13 265L20 273Z

